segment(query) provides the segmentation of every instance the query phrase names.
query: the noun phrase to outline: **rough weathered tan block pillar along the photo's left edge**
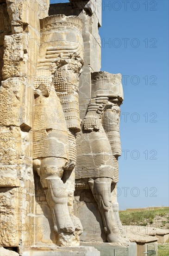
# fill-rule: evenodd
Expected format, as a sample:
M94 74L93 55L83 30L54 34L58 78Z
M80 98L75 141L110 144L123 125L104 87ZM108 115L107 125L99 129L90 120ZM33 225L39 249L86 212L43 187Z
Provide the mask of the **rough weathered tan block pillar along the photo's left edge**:
M39 19L48 16L49 0L44 1L44 10L39 8L39 1L34 1L33 7L29 3L21 0L0 3L0 246L20 254L34 239L30 236L36 202L32 171L32 80L39 51Z

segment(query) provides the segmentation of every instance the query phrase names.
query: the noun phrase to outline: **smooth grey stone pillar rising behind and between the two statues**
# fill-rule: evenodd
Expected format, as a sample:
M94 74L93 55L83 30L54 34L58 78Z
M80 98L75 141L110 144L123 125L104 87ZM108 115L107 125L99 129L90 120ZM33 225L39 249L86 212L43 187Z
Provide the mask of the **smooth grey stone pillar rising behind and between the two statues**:
M80 118L82 119L85 116L91 95L91 72L99 71L101 68L101 40L99 35L101 0L71 0L70 3L50 5L50 15L60 13L67 16L77 15L83 21L84 65L79 85Z

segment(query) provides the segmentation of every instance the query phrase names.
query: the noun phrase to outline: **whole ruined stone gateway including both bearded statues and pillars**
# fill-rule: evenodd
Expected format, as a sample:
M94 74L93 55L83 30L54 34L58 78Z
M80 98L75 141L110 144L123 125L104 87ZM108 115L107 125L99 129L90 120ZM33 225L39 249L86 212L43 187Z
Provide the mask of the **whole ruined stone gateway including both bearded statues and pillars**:
M0 252L99 256L80 246L92 240L127 255L123 89L100 71L101 0L49 2L0 0Z

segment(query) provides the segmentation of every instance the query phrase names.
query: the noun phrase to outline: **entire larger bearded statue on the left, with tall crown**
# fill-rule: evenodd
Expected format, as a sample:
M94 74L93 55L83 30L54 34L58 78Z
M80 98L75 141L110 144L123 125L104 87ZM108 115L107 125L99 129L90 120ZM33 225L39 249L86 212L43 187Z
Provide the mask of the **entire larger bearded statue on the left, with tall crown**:
M33 166L50 205L58 244L68 246L76 244L82 232L81 222L73 215L75 134L80 131L78 87L83 65L81 19L64 15L44 18L41 33L41 41L47 44L38 60L34 112L44 114L46 120L39 122L35 114Z

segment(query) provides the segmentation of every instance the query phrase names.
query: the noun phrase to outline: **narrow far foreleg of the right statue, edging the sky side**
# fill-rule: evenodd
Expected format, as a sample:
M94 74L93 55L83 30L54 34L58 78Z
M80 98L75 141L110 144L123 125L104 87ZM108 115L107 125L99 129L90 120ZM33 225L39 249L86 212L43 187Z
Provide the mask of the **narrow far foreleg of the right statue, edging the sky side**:
M116 219L116 222L119 226L120 229L120 233L123 234L123 228L122 228L122 224L120 221L120 217L119 217L119 203L117 201L117 183L112 183L112 198L113 198L113 202L112 202L112 207L113 207L113 213L114 213L114 217Z

